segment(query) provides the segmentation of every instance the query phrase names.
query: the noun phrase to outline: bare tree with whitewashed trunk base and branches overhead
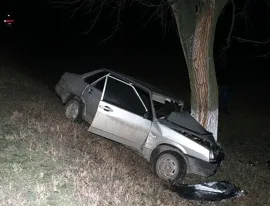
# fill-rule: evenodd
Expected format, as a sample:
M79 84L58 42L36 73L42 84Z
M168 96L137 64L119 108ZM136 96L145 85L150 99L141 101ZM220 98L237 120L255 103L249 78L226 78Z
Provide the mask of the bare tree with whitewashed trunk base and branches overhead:
M151 0L62 0L61 2L54 0L54 2L61 7L70 8L75 5L74 12L82 7L88 8L88 12L97 12L94 23L102 9L108 5L118 8L118 18L124 6L136 2L148 8L157 8L156 14L159 15L164 10L171 9L189 71L191 115L212 132L217 140L218 86L213 45L217 20L228 0L159 0L156 1L157 3Z

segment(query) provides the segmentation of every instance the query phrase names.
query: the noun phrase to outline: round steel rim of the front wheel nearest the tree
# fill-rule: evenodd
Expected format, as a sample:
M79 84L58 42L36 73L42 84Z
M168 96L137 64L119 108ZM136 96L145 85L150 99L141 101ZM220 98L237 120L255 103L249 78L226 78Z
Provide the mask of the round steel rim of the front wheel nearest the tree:
M179 163L174 156L164 154L157 161L156 172L163 179L174 179L179 173Z

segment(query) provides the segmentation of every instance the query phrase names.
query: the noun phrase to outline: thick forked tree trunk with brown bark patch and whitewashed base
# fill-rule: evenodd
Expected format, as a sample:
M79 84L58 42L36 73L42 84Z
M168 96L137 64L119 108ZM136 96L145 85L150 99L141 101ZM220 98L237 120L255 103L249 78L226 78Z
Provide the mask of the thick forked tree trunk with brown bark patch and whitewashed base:
M191 88L191 115L217 141L218 86L214 65L217 20L227 0L177 1L172 5Z

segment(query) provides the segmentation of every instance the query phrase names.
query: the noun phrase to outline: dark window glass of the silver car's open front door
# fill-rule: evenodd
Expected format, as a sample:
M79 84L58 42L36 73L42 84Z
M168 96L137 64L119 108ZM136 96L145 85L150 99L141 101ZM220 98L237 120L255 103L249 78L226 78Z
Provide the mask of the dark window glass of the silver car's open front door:
M107 80L103 100L137 115L145 114L145 108L134 89L110 77Z

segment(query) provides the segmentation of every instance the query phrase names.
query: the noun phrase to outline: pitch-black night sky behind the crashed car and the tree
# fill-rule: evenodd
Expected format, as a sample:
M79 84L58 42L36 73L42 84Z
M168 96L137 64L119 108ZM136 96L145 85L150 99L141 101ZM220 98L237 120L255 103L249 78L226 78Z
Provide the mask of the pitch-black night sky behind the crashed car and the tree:
M12 29L1 20L1 53L16 58L24 65L22 68L27 68L26 72L42 78L45 84L55 84L65 71L83 73L107 67L163 88L189 89L180 41L169 10L161 21L158 15L152 15L156 8L134 3L121 10L118 24L117 11L112 13L111 8L105 8L89 31L97 12L89 13L88 7L82 7L72 16L78 5L65 9L48 2L5 0L0 6L1 17L12 12L16 19ZM218 51L226 46L232 20L230 4L216 29L216 67L226 67L234 85L268 81L270 60L258 56L267 54L269 45L241 42L235 37L265 41L270 34L269 8L263 1L251 1L245 13L249 18L246 25L240 15L244 2L236 1L239 15L223 62Z

